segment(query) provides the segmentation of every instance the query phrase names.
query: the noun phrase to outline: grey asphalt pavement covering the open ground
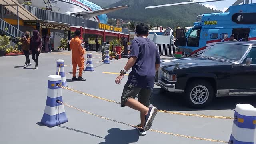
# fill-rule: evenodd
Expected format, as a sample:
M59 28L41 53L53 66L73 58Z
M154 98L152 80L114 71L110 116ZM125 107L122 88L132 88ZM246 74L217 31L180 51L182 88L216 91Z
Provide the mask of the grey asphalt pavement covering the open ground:
M94 52L94 54L96 54ZM100 55L94 55L98 57ZM43 53L39 56L38 70L32 66L23 68L24 56L0 57L0 144L214 144L177 136L148 131L139 136L130 126L104 120L65 106L68 122L61 126L48 128L40 124L47 97L47 77L56 74L56 60L64 59L65 65L72 65L71 52ZM93 59L93 62L101 59ZM85 72L84 82L72 82L72 67L65 67L68 87L95 96L120 101L122 84L114 80L126 64L127 59L115 60L111 64L94 63L94 72ZM67 104L98 114L113 120L137 125L139 112L128 107L91 98L62 89L63 101ZM218 98L207 108L196 110L186 107L181 95L165 92L159 86L154 87L150 103L161 110L172 110L193 114L214 116L234 116L238 103L256 106L256 96ZM228 141L232 120L199 118L193 116L171 115L158 112L152 129L201 138Z

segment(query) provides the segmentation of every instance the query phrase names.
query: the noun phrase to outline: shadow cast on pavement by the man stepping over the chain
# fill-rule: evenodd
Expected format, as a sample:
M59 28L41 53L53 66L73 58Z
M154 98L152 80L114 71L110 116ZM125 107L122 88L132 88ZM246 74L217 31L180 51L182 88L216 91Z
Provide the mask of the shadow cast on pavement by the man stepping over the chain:
M119 128L111 128L108 133L104 138L105 142L99 144L130 144L138 142L140 136L136 129L120 130Z

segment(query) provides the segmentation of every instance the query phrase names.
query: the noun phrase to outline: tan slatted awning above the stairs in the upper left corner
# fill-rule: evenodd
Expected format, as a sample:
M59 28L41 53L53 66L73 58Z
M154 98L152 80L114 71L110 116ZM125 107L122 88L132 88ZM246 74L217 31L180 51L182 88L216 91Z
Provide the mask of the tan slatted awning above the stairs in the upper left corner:
M19 17L22 20L38 20L36 16L34 16L32 13L26 10L26 8L19 4L17 0L0 0L0 4L16 15L18 9Z

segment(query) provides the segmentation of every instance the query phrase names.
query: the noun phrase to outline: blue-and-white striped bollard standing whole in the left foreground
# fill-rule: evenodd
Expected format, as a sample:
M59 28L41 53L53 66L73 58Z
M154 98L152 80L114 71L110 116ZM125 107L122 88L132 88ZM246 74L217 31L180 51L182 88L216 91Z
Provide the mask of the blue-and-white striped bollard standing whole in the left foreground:
M68 122L68 118L64 110L64 105L56 102L57 100L63 102L62 89L56 86L60 83L61 76L48 76L46 106L44 108L44 115L41 119L41 123L48 127L54 127Z

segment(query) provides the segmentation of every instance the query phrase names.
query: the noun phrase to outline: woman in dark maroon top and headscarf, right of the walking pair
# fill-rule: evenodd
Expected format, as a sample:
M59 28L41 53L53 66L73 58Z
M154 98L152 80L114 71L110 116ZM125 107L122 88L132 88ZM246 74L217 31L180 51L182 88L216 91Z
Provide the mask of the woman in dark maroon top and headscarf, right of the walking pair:
M42 49L42 40L39 36L38 30L33 31L33 36L30 38L30 50L32 59L36 62L35 69L38 69L38 57L40 54L40 50Z

